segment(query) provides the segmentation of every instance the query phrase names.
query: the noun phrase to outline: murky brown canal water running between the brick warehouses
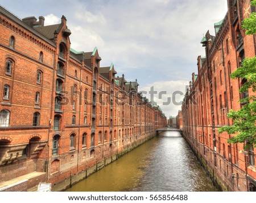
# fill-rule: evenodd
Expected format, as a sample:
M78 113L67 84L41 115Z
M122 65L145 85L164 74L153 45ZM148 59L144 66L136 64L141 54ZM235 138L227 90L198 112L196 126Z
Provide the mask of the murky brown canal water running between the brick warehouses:
M217 191L180 132L162 132L66 191Z

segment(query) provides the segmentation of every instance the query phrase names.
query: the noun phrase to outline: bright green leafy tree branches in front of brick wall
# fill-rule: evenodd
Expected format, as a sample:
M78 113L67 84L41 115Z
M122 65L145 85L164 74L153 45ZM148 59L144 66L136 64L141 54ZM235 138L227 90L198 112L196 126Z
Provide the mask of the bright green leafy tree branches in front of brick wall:
M256 6L256 0L251 1L251 6ZM251 13L249 18L242 21L242 28L246 30L246 35L256 33L256 13ZM243 60L241 67L230 77L245 81L240 88L241 93L248 92L249 89L256 92L256 56ZM245 143L245 148L249 148L252 144L256 145L256 97L249 96L241 99L240 102L243 104L240 110L230 110L228 113L228 118L233 120L233 125L223 126L219 132L236 134L228 140L228 143Z

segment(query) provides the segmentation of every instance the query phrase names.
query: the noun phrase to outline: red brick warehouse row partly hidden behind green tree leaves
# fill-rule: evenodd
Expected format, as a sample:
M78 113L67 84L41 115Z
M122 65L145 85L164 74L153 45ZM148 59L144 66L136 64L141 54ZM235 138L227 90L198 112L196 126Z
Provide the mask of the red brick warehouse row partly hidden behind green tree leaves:
M241 28L253 11L249 0L228 1L225 18L214 23L215 36L208 31L201 40L205 56L197 58L198 74L192 74L176 118L208 175L224 191L256 191L255 149L245 152L243 144L227 142L232 135L218 133L219 127L232 125L229 110L239 110L240 98L253 94L240 93L244 81L230 78L243 59L256 55L255 36Z

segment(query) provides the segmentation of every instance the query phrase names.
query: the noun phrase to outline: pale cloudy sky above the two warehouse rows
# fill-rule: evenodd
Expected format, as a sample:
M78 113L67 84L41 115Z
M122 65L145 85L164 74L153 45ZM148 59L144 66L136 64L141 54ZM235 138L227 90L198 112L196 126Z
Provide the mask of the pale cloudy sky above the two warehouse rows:
M97 47L101 67L113 63L118 76L137 78L139 91L154 86L157 93L147 97L167 117L176 116L185 86L192 72L197 74L197 56L205 55L203 34L215 35L213 23L227 12L226 0L11 0L1 5L20 19L42 15L45 25L60 23L64 15L73 49Z

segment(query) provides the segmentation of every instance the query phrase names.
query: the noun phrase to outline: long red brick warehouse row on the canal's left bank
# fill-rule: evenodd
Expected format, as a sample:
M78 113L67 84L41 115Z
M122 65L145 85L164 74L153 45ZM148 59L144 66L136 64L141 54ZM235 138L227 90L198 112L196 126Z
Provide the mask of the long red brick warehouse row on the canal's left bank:
M0 190L64 190L166 126L137 80L100 67L97 48L71 48L65 16L0 13Z

